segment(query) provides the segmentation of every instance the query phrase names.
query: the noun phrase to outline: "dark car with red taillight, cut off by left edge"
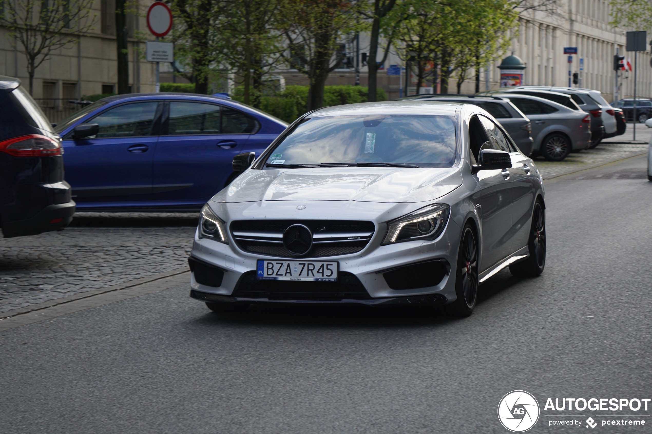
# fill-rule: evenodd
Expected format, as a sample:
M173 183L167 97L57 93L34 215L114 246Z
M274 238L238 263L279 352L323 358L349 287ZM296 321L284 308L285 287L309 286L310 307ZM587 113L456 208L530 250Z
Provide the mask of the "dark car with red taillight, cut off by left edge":
M59 135L20 80L0 75L0 224L5 238L61 230L75 202Z

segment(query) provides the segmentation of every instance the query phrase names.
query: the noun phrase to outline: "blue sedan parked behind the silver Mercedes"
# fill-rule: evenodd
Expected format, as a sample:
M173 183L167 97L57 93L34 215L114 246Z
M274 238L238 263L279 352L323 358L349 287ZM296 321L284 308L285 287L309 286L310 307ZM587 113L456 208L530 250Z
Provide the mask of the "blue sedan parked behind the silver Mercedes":
M78 210L198 210L226 187L233 156L258 156L288 124L215 96L110 96L63 120Z

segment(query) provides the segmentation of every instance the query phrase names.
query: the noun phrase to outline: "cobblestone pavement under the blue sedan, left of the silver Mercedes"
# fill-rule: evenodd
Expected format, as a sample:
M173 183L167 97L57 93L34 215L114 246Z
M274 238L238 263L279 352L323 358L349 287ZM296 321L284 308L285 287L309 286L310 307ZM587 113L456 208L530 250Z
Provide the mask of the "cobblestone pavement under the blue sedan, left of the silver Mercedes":
M183 269L197 213L77 213L61 232L0 238L0 313Z

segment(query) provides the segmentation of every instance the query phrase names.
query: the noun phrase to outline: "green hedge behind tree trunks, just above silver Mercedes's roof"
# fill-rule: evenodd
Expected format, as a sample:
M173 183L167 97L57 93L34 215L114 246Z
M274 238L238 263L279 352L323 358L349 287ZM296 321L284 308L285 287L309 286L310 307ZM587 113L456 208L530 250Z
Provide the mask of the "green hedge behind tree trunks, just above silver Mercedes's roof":
M326 86L324 105L353 104L367 101L368 88L362 86ZM386 101L385 90L377 90L377 100ZM235 88L231 98L244 102L243 87ZM286 122L293 122L306 113L308 86L287 86L278 96L263 96L260 109Z

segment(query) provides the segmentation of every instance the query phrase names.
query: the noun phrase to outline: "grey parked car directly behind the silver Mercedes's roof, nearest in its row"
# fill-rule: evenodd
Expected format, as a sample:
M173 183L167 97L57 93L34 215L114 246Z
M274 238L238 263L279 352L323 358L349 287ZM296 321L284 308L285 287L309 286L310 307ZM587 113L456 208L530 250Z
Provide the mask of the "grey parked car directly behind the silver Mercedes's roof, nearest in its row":
M505 98L498 96L478 96L478 95L432 95L428 98L414 98L419 101L437 101L437 102L462 102L475 104L478 107L488 111L488 113L505 128L505 131L512 137L512 140L518 146L518 150L524 155L529 156L532 153L533 140L531 137L532 126L526 115L516 108Z

